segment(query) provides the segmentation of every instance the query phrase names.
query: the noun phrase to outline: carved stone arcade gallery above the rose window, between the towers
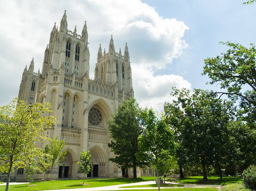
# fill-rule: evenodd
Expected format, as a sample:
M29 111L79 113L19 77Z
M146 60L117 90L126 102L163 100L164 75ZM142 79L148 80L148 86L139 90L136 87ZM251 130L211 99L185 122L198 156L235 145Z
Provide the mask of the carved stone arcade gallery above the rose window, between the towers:
M103 84L100 80L91 80L88 82L88 92L114 98L115 90L113 85Z

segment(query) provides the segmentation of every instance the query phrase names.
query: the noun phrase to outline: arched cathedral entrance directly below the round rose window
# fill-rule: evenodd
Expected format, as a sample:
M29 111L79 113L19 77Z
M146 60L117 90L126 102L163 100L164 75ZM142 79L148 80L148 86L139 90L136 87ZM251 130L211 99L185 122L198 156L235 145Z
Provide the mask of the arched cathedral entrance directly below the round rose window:
M87 174L87 177L104 177L105 174L105 157L103 152L98 146L94 146L90 150L91 154L91 170Z

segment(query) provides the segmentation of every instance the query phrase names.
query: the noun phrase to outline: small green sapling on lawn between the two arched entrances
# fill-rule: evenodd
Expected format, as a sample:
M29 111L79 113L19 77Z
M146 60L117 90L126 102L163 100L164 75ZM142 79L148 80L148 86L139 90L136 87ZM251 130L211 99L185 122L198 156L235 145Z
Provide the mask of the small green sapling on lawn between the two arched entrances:
M79 171L84 173L84 177L85 177L85 174L88 174L90 172L90 169L91 169L90 159L91 159L90 151L87 151L87 152L83 151L82 153L80 153L80 160L79 162L77 162L77 164L78 164Z

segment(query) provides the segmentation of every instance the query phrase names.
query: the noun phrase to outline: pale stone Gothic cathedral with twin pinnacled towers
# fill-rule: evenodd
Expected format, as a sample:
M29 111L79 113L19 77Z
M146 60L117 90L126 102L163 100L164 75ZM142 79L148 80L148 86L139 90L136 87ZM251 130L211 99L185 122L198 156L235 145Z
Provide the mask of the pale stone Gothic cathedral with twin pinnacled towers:
M130 57L127 44L124 55L115 51L111 35L108 52L101 49L97 55L94 80L89 78L89 47L86 22L82 34L68 30L66 11L50 34L49 44L44 52L42 71L34 72L34 60L24 69L19 88L19 99L29 103L52 105L57 123L45 129L46 136L66 142L66 158L53 170L52 178L83 177L78 171L80 153L91 153L91 172L87 177L132 176L132 169L126 171L109 161L114 157L108 143L108 120L123 100L133 98ZM44 148L47 142L38 146ZM147 169L148 172L151 169ZM144 169L143 169L144 172ZM48 172L49 173L49 172ZM152 173L152 170L151 170ZM145 172L146 174L146 172ZM16 169L16 181L26 179L25 170ZM137 176L141 170L137 169ZM42 179L38 174L35 179ZM46 174L49 178L49 174Z

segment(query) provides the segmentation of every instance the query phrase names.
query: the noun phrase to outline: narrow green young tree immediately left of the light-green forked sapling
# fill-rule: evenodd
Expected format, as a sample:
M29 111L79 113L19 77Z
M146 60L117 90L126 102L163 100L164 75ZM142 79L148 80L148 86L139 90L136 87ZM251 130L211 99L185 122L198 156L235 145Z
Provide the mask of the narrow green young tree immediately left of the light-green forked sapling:
M51 167L52 156L49 155L49 150L50 150L50 147L48 144L46 144L43 150L43 155L38 161L40 171L44 174L44 180L45 180L45 173L47 169Z

